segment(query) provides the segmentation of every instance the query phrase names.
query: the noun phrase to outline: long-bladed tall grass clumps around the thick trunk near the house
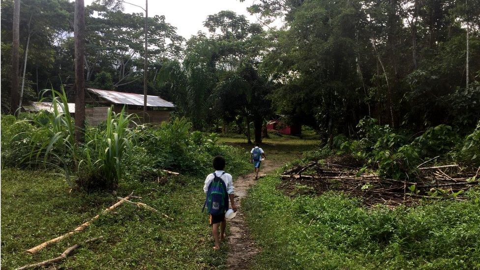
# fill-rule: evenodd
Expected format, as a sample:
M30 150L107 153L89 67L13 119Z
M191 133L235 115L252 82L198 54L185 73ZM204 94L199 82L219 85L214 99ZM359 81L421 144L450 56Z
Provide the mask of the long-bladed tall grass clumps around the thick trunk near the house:
M32 128L16 134L30 151L21 163L26 166L54 168L66 183L80 188L114 188L123 176L121 158L130 149L133 132L132 115L122 109L107 111L105 129L89 128L86 143L75 142L75 123L68 109L65 91L45 90L52 96L52 110L42 111L28 120ZM42 98L44 100L45 98Z

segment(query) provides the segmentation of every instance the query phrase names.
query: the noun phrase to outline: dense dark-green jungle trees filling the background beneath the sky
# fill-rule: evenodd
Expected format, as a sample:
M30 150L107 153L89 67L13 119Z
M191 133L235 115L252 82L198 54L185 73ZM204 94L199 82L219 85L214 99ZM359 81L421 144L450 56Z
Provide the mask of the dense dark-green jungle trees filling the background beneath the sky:
M87 6L90 87L142 89L142 14L123 7L114 0ZM2 112L9 109L12 8L13 0L1 1ZM231 131L249 137L251 127L261 141L265 121L281 118L331 142L354 137L365 116L412 132L446 124L461 136L477 125L478 1L263 0L248 10L257 23L221 11L187 40L168 18L149 18L149 93L173 101L195 129L235 123ZM73 3L25 0L20 20L21 51L31 39L25 101L71 86Z

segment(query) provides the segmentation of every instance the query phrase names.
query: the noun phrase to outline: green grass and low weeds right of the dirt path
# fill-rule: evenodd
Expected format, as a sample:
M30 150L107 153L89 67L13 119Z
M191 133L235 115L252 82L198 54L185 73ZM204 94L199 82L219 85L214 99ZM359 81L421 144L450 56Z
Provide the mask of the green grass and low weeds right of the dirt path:
M254 269L480 269L480 192L467 202L368 210L345 195L289 198L270 176L242 202Z

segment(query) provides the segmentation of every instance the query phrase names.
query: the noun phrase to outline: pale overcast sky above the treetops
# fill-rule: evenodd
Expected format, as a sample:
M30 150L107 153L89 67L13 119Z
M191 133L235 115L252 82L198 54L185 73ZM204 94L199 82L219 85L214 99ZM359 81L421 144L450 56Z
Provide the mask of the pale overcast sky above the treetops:
M89 5L93 0L85 0ZM127 0L140 6L145 6L145 0ZM250 15L246 8L254 0L149 0L149 17L154 15L165 15L165 21L177 28L177 33L188 39L191 35L197 34L199 30L207 31L203 22L208 15L215 14L221 10L232 10L242 14L254 23L257 22L255 15ZM125 4L126 13L144 12L136 6Z

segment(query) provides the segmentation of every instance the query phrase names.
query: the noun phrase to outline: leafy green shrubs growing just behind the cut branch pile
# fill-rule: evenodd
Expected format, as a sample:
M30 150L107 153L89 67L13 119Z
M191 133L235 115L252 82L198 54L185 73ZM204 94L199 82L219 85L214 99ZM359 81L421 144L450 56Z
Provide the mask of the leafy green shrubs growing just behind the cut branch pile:
M460 142L459 136L448 125L428 128L417 137L405 130L394 130L389 125L378 125L377 120L364 118L358 126L360 140L351 140L344 135L333 138L332 154L351 154L366 160L366 166L377 169L383 177L406 179L412 176L418 164L423 160L442 156L443 160L450 156L461 157L464 163L475 163L479 155L478 133L474 131L467 136L465 142L451 153L452 148ZM479 128L478 128L479 129ZM478 131L477 131L478 132ZM459 154L462 152L463 154ZM321 149L316 156L324 156L329 151ZM456 153L456 154L455 154ZM315 156L311 155L311 156ZM468 157L470 160L467 162Z

